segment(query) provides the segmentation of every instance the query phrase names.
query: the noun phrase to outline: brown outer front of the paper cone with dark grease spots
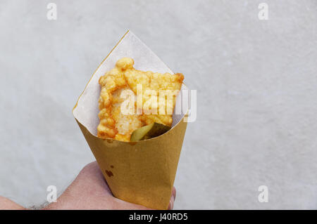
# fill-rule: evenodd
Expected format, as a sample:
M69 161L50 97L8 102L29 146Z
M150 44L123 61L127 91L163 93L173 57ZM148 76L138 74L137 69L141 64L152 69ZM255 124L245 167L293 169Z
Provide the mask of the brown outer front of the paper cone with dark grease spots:
M125 143L93 136L78 122L115 197L168 209L187 123L162 136Z

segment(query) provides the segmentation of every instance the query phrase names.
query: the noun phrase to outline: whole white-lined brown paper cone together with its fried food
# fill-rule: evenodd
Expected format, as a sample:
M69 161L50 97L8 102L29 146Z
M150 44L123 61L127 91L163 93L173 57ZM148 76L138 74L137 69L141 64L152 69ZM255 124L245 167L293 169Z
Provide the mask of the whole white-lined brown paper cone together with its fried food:
M74 117L114 197L168 209L187 127L183 79L129 31L78 98Z

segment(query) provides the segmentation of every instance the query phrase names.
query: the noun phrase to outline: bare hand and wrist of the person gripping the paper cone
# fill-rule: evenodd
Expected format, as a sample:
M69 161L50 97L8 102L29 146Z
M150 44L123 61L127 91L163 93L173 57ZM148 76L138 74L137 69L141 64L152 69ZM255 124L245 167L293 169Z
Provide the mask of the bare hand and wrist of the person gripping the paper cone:
M176 190L173 187L170 205L173 209ZM5 197L0 197L0 210L23 210L23 206L12 202ZM149 208L124 202L113 197L97 162L87 164L71 183L63 195L58 197L56 203L51 203L44 209L128 209L148 210Z

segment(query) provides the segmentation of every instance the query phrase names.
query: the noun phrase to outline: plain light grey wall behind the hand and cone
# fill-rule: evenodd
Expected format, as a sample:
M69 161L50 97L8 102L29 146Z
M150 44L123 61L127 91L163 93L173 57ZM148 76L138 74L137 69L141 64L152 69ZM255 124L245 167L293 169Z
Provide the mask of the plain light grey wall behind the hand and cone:
M131 29L197 89L175 209L317 209L316 0L49 2L0 1L0 195L38 206L94 160L71 111Z

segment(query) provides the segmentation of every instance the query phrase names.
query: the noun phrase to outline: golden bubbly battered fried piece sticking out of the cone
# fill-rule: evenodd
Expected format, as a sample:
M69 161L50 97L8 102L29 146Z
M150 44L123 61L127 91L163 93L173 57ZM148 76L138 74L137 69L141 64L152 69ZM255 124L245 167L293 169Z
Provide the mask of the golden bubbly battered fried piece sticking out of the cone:
M113 138L130 141L133 131L154 122L171 126L172 114L175 107L175 97L180 91L184 76L178 74L161 74L135 70L132 58L121 58L114 67L100 77L101 93L99 97L99 119L97 136L99 138ZM121 98L123 91L132 91L134 96L139 94L142 85L142 105L135 101L135 112L138 114L123 114L120 110L125 100ZM173 100L168 100L160 91L174 91ZM156 98L153 98L155 96ZM159 100L161 97L161 100ZM157 99L156 106L151 100ZM163 107L163 111L160 109ZM153 111L156 111L157 114ZM162 113L163 112L163 113ZM169 112L169 113L168 113Z

